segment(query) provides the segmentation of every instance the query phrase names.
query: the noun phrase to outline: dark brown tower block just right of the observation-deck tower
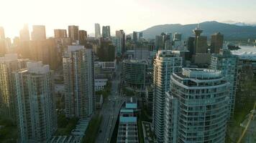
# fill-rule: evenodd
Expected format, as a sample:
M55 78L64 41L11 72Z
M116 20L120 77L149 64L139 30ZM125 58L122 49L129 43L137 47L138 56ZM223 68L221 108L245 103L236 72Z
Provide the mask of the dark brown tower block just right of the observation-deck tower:
M211 35L211 53L219 54L223 46L224 35L217 32Z

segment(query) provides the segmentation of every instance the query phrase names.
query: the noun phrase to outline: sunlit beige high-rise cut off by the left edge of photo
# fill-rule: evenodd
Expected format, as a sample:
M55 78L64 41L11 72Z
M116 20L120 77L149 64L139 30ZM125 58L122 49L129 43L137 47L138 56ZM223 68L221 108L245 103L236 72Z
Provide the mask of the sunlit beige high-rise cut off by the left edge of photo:
M17 54L6 54L0 57L0 113L1 117L14 119L15 97L12 72L24 69L27 59L18 59Z

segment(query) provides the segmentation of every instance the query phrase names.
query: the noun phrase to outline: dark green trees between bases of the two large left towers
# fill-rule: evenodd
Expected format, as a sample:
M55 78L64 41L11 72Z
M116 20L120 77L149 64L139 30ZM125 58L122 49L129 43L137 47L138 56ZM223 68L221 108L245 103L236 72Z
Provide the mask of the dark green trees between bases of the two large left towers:
M68 119L65 114L58 114L58 130L55 135L70 135L72 129L76 127L78 118Z

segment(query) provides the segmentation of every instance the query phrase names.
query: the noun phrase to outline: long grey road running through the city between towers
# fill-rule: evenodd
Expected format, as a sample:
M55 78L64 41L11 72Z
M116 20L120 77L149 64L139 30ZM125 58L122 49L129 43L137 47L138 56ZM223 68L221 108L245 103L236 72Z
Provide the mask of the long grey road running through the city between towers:
M121 66L117 65L116 76L112 79L111 94L105 99L102 105L101 114L102 122L100 132L96 139L96 143L110 142L111 135L114 130L116 119L118 118L119 109L124 102L125 97L120 96L118 85L120 84Z

